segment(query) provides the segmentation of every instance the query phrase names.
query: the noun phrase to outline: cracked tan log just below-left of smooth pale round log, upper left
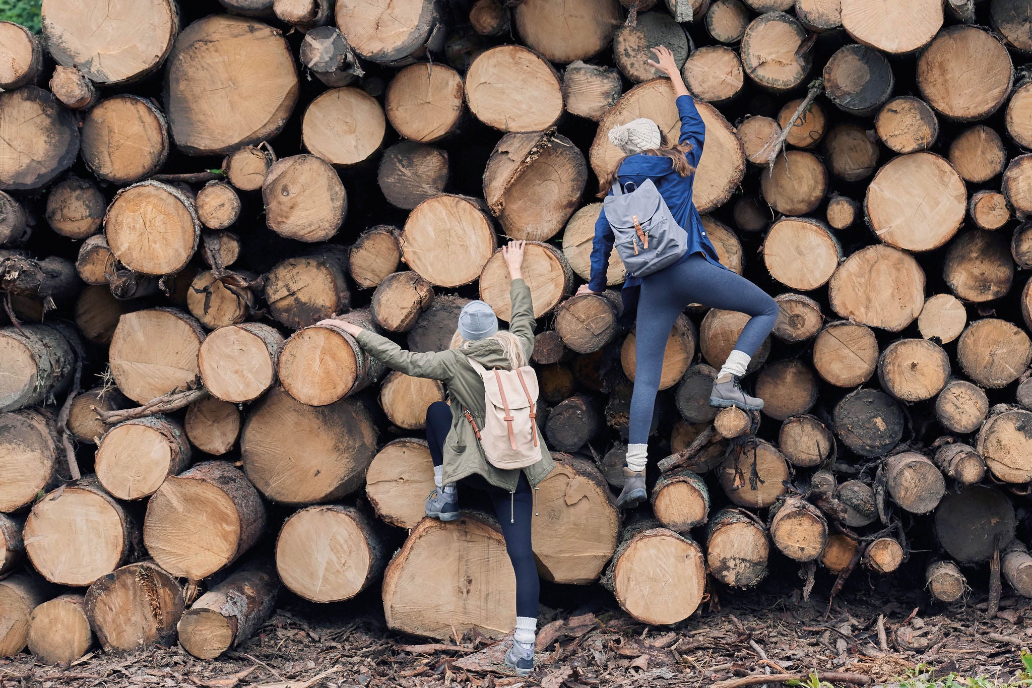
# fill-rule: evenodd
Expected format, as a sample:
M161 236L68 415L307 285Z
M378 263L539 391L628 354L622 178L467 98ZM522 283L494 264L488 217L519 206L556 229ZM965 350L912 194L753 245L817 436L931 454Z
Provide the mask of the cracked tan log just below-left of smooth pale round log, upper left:
M272 163L261 196L268 228L298 241L311 243L334 236L348 214L348 194L341 177L317 156L291 156Z

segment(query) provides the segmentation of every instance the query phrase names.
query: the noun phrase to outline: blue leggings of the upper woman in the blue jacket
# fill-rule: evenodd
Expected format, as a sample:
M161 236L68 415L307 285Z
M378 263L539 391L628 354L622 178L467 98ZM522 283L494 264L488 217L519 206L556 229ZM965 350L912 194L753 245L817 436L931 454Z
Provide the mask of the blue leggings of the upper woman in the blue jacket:
M777 320L777 301L745 277L710 263L702 254L642 280L635 325L635 392L631 397L630 441L644 445L659 391L663 356L674 321L689 303L752 316L735 342L756 353Z

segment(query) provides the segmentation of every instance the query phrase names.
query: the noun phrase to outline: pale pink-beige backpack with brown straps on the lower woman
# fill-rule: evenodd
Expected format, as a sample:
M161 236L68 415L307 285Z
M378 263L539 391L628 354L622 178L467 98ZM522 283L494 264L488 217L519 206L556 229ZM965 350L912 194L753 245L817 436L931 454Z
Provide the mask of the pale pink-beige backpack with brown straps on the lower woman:
M466 357L484 380L484 427L478 428L470 412L465 419L484 449L487 461L496 468L524 468L541 461L538 439L538 375L534 368L487 370Z

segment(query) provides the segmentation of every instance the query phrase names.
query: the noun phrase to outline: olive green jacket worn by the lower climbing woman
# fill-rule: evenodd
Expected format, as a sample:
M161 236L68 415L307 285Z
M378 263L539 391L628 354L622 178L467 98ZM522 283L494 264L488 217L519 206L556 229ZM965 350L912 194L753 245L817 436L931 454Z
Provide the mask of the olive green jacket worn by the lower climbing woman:
M513 280L510 287L512 319L509 331L519 337L527 359L534 352L534 303L530 289L522 280ZM450 349L443 352L416 354L406 351L386 337L362 330L356 337L358 345L387 367L415 378L440 380L448 387L451 400L452 426L445 439L445 463L442 476L445 485L459 481L466 476L478 473L491 485L513 492L519 483L519 471L526 473L526 480L536 486L552 471L554 463L545 446L545 438L538 432L541 443L541 461L525 468L502 470L487 462L484 450L477 440L470 422L462 414L462 407L470 409L478 427L484 426L484 382L466 356L474 358L490 370L510 369L509 359L495 339L487 338L466 345L461 352Z

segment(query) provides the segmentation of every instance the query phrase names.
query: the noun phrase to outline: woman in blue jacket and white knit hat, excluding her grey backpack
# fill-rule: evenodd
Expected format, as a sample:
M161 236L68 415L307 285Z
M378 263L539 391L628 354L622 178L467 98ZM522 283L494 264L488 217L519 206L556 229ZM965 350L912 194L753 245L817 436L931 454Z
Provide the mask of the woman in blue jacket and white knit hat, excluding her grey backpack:
M609 140L625 157L607 179L600 179L605 197L613 183L624 187L652 179L674 219L688 235L684 256L673 265L645 277L628 274L623 285L624 313L637 308L635 324L635 391L631 400L630 444L623 468L623 491L617 500L621 507L637 506L647 498L645 466L648 461L648 432L652 407L659 390L663 356L677 316L689 303L738 310L751 316L734 351L717 374L710 395L714 406L763 408L762 399L747 395L739 386L751 356L774 328L777 302L762 289L720 264L716 251L706 236L702 218L691 200L696 167L703 155L706 126L696 103L684 86L673 54L666 47L653 48L658 62L649 64L665 72L674 87L677 111L681 118L681 136L671 146L659 127L647 119L635 120L609 131ZM606 289L606 267L613 249L613 231L602 211L594 225L591 251L591 280L579 294L600 294ZM640 307L638 307L640 305Z

